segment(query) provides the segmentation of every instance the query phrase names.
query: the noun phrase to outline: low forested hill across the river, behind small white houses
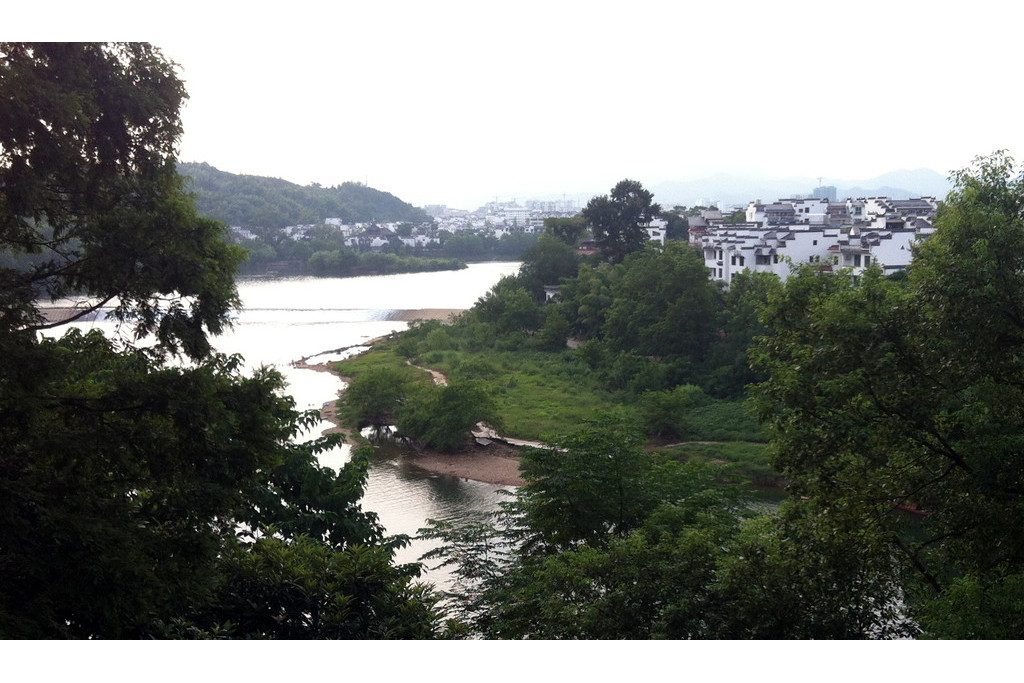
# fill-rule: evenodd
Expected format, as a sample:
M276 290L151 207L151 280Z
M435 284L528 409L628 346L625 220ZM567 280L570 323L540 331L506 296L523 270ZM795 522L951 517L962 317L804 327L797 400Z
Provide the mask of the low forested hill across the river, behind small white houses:
M200 213L228 225L282 228L316 223L325 218L358 222L427 222L422 210L390 193L355 182L339 186L297 185L280 178L236 175L209 164L178 164L191 178Z

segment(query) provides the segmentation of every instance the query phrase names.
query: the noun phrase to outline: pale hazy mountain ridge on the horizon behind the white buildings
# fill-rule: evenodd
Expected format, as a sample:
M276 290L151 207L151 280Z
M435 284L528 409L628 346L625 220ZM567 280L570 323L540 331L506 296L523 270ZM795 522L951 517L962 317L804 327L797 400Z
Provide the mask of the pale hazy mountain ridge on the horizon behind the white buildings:
M908 199L930 196L945 199L949 181L930 169L893 171L866 180L823 180L835 185L837 199L847 197L889 197ZM745 206L753 200L771 202L796 196L809 196L818 186L817 178L764 178L717 174L687 182L660 182L650 185L654 200L663 208L676 205L695 206L698 201L719 202L721 208Z

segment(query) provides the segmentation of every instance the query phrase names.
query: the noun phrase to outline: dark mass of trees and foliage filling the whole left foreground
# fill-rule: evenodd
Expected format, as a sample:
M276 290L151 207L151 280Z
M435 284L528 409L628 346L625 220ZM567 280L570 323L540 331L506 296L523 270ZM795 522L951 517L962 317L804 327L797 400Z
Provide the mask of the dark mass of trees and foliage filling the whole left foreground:
M335 441L293 442L281 376L212 351L241 252L182 191L173 65L3 43L0 92L0 247L41 257L0 270L0 635L432 633L359 508L366 459L321 467ZM133 339L40 338L73 294Z

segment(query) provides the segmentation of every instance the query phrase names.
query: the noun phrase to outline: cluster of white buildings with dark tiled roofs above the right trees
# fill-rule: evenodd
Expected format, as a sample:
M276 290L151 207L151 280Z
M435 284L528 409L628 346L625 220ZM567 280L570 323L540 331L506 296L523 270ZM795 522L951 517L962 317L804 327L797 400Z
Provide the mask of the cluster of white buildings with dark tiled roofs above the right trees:
M914 243L935 231L937 209L933 197L758 200L746 207L745 222L727 223L718 211L690 218L689 241L703 252L711 278L727 285L742 270L785 280L800 263L855 274L878 265L891 273L906 268Z

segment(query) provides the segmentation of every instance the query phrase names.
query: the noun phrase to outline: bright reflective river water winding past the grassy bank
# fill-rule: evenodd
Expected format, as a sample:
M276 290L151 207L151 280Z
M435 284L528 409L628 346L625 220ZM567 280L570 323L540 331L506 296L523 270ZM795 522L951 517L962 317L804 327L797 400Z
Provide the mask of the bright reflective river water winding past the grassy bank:
M338 354L332 349L366 342L408 328L387 319L394 310L469 308L502 276L518 270L517 262L474 263L463 270L364 278L260 278L238 283L243 306L233 329L214 340L217 350L240 353L249 367L274 366L288 382L299 410L319 409L337 397L344 383L328 373L291 367L307 356L317 360ZM78 323L105 329L112 323ZM312 437L330 427L322 423ZM324 454L322 463L340 467L348 446ZM414 536L429 518L474 520L496 509L508 486L436 475L412 466L396 455L374 457L362 500L390 535ZM398 562L415 562L432 545L414 541L400 550ZM444 571L425 578L446 583Z

